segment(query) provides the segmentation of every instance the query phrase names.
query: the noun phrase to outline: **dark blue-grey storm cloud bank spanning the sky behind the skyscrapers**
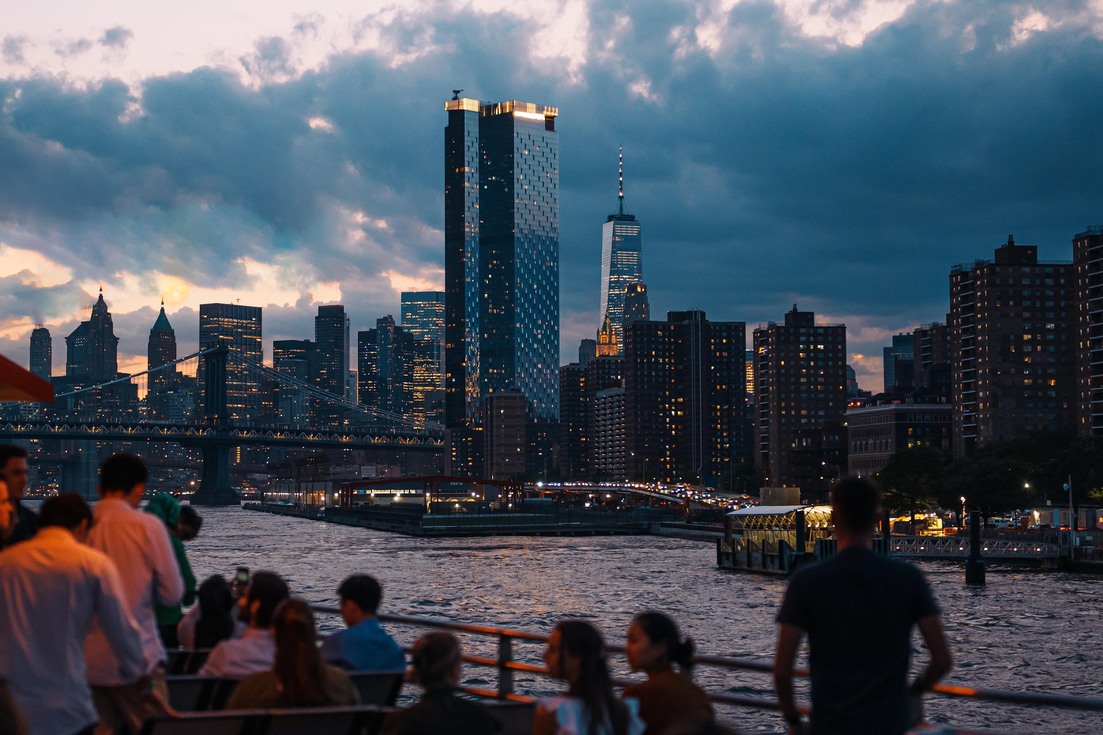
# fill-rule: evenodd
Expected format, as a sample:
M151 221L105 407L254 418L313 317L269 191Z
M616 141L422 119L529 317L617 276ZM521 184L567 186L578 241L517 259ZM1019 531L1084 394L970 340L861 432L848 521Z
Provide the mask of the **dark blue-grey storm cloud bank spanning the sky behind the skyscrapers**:
M381 273L442 266L448 89L558 105L568 359L599 323L618 145L654 315L753 324L797 302L848 320L867 354L943 318L955 262L990 257L1008 233L1068 257L1097 219L1103 46L1088 24L1016 36L1017 6L921 4L848 47L743 2L709 50L694 42L697 10L598 3L569 72L529 54L527 22L435 10L383 29L387 54L413 58L398 64L342 54L259 86L201 68L147 79L140 98L117 80L9 79L0 219L97 274L125 263L222 285L238 258L300 257L341 281L356 331L397 310ZM260 40L242 63L261 80L290 75L290 44ZM283 309L266 310L266 335L312 333L309 305Z

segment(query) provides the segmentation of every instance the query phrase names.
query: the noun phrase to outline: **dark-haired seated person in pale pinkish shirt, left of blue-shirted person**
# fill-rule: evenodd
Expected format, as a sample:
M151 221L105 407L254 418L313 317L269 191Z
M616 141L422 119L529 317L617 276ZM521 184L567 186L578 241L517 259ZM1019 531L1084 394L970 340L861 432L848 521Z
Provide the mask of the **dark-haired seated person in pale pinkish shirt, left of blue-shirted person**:
M253 575L245 597L245 608L249 614L248 629L240 638L223 640L215 646L199 674L235 679L270 670L276 662L272 613L289 594L287 582L279 574L257 572Z

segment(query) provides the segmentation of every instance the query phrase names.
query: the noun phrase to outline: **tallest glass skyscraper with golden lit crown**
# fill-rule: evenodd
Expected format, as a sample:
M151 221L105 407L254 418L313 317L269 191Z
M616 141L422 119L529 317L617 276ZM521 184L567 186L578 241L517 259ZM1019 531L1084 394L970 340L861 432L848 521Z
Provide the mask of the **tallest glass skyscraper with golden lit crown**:
M446 423L520 389L531 419L559 402L558 109L453 98L445 128Z

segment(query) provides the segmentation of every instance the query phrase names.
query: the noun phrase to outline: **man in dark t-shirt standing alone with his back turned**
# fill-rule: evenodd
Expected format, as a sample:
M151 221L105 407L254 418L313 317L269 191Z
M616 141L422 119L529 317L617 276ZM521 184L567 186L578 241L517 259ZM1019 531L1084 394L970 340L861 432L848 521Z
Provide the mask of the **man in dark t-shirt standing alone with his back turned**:
M778 623L778 699L792 735L901 735L912 724L908 662L918 625L931 651L911 685L929 690L950 670L939 608L922 573L872 552L880 490L864 477L832 488L835 556L806 566L789 583ZM793 661L808 636L812 720L793 701Z

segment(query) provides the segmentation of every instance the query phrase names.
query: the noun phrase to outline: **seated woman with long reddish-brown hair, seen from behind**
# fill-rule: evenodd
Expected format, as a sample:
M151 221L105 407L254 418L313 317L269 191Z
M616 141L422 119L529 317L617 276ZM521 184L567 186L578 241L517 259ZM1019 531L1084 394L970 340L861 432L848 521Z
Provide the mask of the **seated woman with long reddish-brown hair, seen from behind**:
M272 614L276 663L271 671L242 680L227 710L313 707L358 704L352 680L341 669L322 663L310 605L291 597Z

